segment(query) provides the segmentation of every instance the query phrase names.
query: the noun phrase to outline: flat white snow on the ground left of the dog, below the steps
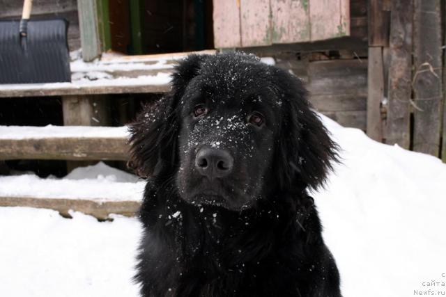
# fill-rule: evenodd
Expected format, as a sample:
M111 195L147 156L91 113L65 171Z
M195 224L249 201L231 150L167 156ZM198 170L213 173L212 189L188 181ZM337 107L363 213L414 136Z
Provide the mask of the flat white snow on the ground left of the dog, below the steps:
M0 207L0 296L137 296L136 218ZM6 227L7 226L7 227Z

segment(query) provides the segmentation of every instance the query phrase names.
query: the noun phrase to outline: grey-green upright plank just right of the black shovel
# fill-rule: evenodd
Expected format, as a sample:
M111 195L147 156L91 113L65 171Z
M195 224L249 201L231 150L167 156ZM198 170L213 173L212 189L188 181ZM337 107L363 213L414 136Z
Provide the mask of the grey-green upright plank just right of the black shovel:
M82 59L93 61L101 54L96 0L77 0Z

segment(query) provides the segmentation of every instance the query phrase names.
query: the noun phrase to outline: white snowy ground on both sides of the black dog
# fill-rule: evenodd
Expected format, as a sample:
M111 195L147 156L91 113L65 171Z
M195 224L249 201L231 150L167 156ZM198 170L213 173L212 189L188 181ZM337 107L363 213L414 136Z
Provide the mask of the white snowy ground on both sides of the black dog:
M344 163L314 198L344 296L446 295L425 283L446 282L446 165L324 122ZM0 226L0 296L137 295L134 218L0 207Z

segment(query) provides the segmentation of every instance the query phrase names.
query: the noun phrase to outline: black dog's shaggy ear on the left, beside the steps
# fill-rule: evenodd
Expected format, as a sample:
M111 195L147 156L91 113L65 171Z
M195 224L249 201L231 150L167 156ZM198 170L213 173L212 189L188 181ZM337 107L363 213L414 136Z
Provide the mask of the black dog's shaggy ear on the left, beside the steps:
M171 91L153 104L144 106L130 130L128 167L140 177L164 175L174 170L180 120L178 102L187 84L197 76L206 55L190 55L171 76Z

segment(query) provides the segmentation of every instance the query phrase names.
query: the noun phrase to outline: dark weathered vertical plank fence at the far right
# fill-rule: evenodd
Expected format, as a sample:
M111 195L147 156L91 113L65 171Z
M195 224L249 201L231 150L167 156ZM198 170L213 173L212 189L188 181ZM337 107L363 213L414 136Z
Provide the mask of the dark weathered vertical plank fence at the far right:
M446 161L442 2L369 0L367 134Z

